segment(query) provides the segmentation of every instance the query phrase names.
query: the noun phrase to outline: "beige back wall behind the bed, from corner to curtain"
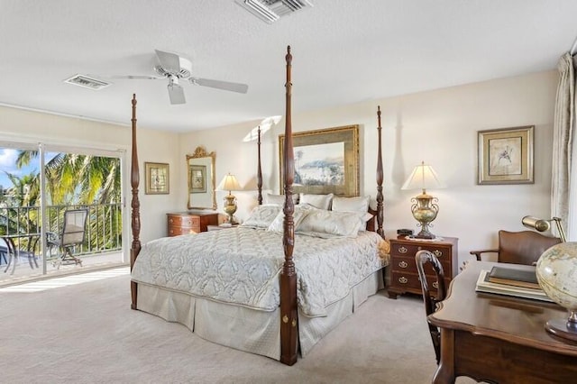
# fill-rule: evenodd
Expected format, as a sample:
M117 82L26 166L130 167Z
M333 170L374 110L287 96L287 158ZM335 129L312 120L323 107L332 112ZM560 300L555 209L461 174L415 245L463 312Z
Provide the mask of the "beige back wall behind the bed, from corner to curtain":
M343 105L322 111L293 114L293 131L308 131L347 124L361 126L361 193L376 195L377 105L383 128L385 172L385 233L398 228L417 232L410 213L410 198L418 191L400 190L413 167L426 161L434 166L447 187L428 192L438 197L440 212L432 232L460 239L462 261L469 251L497 243L496 231L522 230L524 215L550 216L550 180L553 135L554 71L450 87L407 96ZM283 92L279 87L279 92ZM298 100L298 79L293 86ZM242 185L255 188L256 144L243 137L258 121L182 135L180 158L197 145L216 152L217 183L228 171ZM278 136L284 120L262 138L264 188L279 193ZM477 185L477 132L493 128L535 125L535 184ZM224 140L225 138L225 140ZM186 180L179 200L186 202ZM217 193L222 211L225 192ZM254 190L236 192L237 215L244 219L256 205Z

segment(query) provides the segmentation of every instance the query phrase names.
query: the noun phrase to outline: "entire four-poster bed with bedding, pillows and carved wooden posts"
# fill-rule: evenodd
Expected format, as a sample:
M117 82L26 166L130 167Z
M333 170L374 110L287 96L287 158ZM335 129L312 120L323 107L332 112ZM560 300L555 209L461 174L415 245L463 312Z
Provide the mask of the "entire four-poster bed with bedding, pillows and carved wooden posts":
M186 325L206 340L288 365L297 361L298 350L304 356L382 288L382 271L389 261L382 229L380 109L377 210L371 210L368 197L339 200L345 206L352 203L357 210L361 206L364 212L294 204L291 59L289 47L283 206L262 204L259 133L259 205L249 219L224 231L161 238L142 245L136 96L131 175L132 308ZM303 232L306 225L310 233Z

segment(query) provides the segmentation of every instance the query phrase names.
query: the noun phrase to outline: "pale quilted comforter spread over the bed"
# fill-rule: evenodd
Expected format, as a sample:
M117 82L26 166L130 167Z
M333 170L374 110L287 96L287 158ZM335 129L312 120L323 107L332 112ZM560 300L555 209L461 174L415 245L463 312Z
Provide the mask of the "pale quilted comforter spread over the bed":
M307 316L349 294L354 285L384 266L377 233L320 239L295 236L298 306ZM166 237L142 246L133 281L195 297L273 311L279 306L282 233L237 227Z

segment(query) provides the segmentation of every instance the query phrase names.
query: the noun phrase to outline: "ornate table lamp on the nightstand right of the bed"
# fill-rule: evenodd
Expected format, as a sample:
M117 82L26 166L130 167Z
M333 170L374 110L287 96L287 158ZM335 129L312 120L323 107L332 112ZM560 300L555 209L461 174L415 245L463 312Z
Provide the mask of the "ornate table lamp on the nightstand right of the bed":
M438 201L436 197L432 197L426 193L426 188L442 188L444 183L437 176L435 169L430 165L426 165L425 161L421 161L417 165L410 176L405 181L401 189L421 189L422 193L417 197L411 198L413 206L411 212L413 217L421 227L421 231L414 237L418 239L435 239L435 234L429 232L429 225L435 220L439 212Z

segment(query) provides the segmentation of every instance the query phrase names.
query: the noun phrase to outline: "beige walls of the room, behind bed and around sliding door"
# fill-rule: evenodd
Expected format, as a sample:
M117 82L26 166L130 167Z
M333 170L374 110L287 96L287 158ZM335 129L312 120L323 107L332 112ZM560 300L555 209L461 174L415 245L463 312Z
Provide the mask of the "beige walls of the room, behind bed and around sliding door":
M359 124L361 135L361 193L376 194L376 110L382 110L383 163L385 172L385 233L394 237L398 228L417 231L410 213L410 198L418 191L400 190L405 178L421 160L433 165L447 188L430 190L438 197L440 212L432 232L460 239L460 259L469 251L496 244L499 228L521 230L523 215L550 215L551 146L556 72L492 80L414 95L341 105L320 111L293 114L293 131L301 132ZM284 87L279 87L284 93ZM298 100L298 79L293 100ZM127 101L127 113L130 103ZM138 114L138 113L137 113ZM97 123L53 114L39 114L0 107L0 141L39 141L77 147L126 151L124 194L130 206L131 130L126 126ZM264 117L264 116L262 116ZM256 206L256 143L243 137L259 123L240 123L193 133L147 130L139 121L138 149L141 175L139 197L142 242L166 234L166 213L187 206L186 154L198 145L215 151L216 183L234 173L247 190L235 192L239 219ZM535 184L479 186L477 132L480 130L535 125ZM264 188L279 193L278 136L284 120L262 137ZM144 194L144 162L166 162L170 167L170 194ZM217 192L222 212L226 192ZM374 203L374 201L373 201ZM125 210L126 220L130 210ZM126 225L128 231L128 225ZM127 233L126 233L127 234ZM127 236L125 236L127 237Z

